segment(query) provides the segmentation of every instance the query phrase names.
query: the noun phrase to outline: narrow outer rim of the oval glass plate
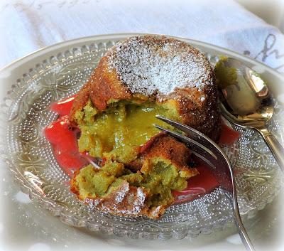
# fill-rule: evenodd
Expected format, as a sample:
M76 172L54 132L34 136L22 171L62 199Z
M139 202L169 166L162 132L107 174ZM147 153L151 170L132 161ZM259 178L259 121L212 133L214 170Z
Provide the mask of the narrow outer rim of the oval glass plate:
M64 49L72 49L72 48L75 48L75 47L78 47L78 46L80 47L80 46L87 44L87 43L91 43L92 41L109 41L109 40L119 41L119 40L127 38L129 36L136 36L136 35L145 35L145 34L143 34L143 33L120 33L120 34L89 36L89 37L85 37L85 38L76 38L76 39L71 40L71 41L65 41L65 42L62 42L62 43L55 44L53 46L48 46L46 48L42 48L40 50L35 51L34 53L31 53L29 55L26 55L23 58L18 59L16 61L14 61L13 63L7 65L6 67L2 68L0 70L0 81L9 82L8 88L10 90L13 83L16 82L15 80L18 79L18 78L21 78L21 75L23 75L24 73L28 73L29 68L34 67L34 65L36 65L37 63L42 63L43 59L49 59L50 58L49 53L51 53L53 55L57 55L57 53L59 51L64 51L63 48ZM251 63L253 65L260 65L260 68L265 69L268 73L270 73L271 75L274 75L276 78L278 78L278 80L284 81L284 78L283 78L282 75L280 75L280 73L277 73L275 70L273 70L272 68L269 68L267 65L264 65L263 63L259 63L256 60L248 58L247 56L240 55L238 53L235 53L234 51L226 50L224 48L213 46L213 45L210 45L208 43L203 43L203 42L200 42L200 41L194 41L194 40L190 40L190 39L187 39L187 38L180 38L180 37L173 37L173 38L178 38L182 41L186 41L187 43L190 43L193 46L196 46L198 48L203 47L203 48L207 48L208 50L216 50L216 51L219 52L219 54L226 54L226 55L234 56L236 58L239 58L240 60L243 60L246 63ZM207 52L207 51L205 51L205 52ZM14 70L18 70L20 73L16 74L16 76L12 76L12 79L11 79L11 73ZM9 77L10 77L10 79L9 79ZM13 79L13 77L15 77L15 79ZM2 145L2 147L3 147L3 145ZM8 164L11 165L11 163L8 163ZM92 229L92 230L100 230L104 233L114 233L116 235L120 235L119 233L116 233L117 231L115 229L107 228L106 225L103 225L103 224L99 225L99 223L97 223L97 225L96 224L92 225L92 223L88 224L84 220L72 218L70 215L68 215L67 212L64 212L64 210L61 210L61 211L58 210L58 208L55 208L52 205L52 203L50 203L48 200L45 200L41 196L40 192L35 191L35 189L31 188L31 185L25 180L25 177L22 176L21 173L16 171L17 170L16 166L13 166L13 168L11 167L10 169L13 173L13 176L16 178L18 183L20 183L23 192L28 193L30 198L32 199L32 201L39 203L43 208L47 208L54 215L59 215L63 222L69 223L70 225L79 226L79 227L85 226L85 227ZM273 196L275 196L275 195L273 195ZM266 201L266 203L270 202L271 200L272 200L272 198L268 198L268 201ZM264 203L264 205L266 203ZM253 208L253 210L259 210L259 209L263 208L264 205L258 205L258 208ZM251 212L248 211L248 212L244 213L244 215L243 215L244 218L249 217L249 215L253 215L253 213L252 213L253 210L251 210ZM228 224L230 224L230 223L228 223ZM216 226L216 228L224 228L225 225L226 225L226 223L224 223L224 225ZM146 234L141 235L141 236L139 235L138 237L143 237L143 238L148 238L148 239L153 239L155 237L158 237L160 239L168 238L167 234L165 234L165 236L164 236L162 232L153 233L153 235L152 235L151 231L150 231L148 233L148 235L146 233ZM212 229L208 230L208 229L200 228L200 230L198 230L195 233L190 233L190 230L187 230L186 233L184 231L182 231L182 232L183 233L181 235L172 234L172 235L170 235L170 237L180 239L182 237L186 237L187 235L196 236L199 233L211 233ZM131 234L127 231L126 231L126 233L122 234L122 236L126 236L126 235L131 237Z

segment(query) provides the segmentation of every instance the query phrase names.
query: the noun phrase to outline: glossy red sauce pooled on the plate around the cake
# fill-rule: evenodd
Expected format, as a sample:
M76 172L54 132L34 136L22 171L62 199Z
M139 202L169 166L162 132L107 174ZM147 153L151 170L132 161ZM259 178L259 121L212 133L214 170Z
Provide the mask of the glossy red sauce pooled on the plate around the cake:
M80 154L77 146L78 129L70 129L68 114L70 113L75 96L68 97L60 102L50 105L50 109L59 114L58 119L45 127L46 139L52 144L55 159L60 167L72 177L75 170L81 169L89 164L86 153ZM222 134L219 139L220 144L233 144L239 139L239 132L222 123ZM214 190L219 183L208 166L198 159L195 159L199 175L190 178L187 188L183 191L173 191L175 203L192 201L193 199Z

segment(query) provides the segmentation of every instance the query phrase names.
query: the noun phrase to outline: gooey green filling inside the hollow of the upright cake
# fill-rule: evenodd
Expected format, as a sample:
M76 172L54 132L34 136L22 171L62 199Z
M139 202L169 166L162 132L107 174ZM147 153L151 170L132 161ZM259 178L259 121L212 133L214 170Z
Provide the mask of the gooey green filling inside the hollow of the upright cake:
M137 147L145 144L159 130L153 124L167 125L156 114L178 119L178 112L168 104L137 100L112 102L98 113L89 101L75 118L81 130L79 151L90 156L129 163L136 159Z

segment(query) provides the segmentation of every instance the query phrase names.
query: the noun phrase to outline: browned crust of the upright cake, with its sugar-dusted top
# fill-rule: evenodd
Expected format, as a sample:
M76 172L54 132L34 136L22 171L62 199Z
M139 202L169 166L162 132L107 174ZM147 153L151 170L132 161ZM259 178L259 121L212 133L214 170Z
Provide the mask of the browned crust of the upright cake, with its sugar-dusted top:
M150 58L147 62L147 57L143 53L136 53L137 55L131 58L131 55L127 53L135 53L136 50L142 50L141 44L144 47L146 46L146 48L149 46L153 49L153 51L146 52L146 54L157 53L160 57L158 59L155 59L155 57ZM145 49L144 47L143 49ZM169 49L164 50L163 48ZM122 50L126 50L127 53L122 54L123 59L119 59L119 53ZM172 56L167 58L166 53ZM180 71L180 74L173 73L169 78L153 78L154 73L148 69L149 73L146 71L143 73L143 76L136 78L135 74L132 73L132 71L141 70L141 67L147 65L149 61L155 63L155 60L157 60L157 63L159 63L159 60L175 60L178 55L181 55L178 63L182 67L178 65L174 65L175 67L173 67L170 63L164 63L163 67L158 68L158 73L163 75L165 68L165 70L168 69L170 72ZM131 58L128 63L126 62L126 56ZM139 56L141 58L138 58ZM148 55L148 57L151 56ZM183 60L182 58L185 59ZM146 60L146 62L138 65L136 63L137 60ZM186 65L187 63L192 63L195 67L192 68L190 65ZM195 73L185 74L182 70L192 70ZM123 74L128 75L128 78L124 78ZM184 82L182 82L184 74ZM175 77L180 82L175 80ZM134 82L129 83L130 80ZM154 80L157 80L157 82L154 82ZM172 85L172 82L169 81L173 80L175 87L165 87L163 82L159 82L162 80L165 80L165 85L167 83L168 85ZM190 82L190 80L193 82ZM147 81L152 81L152 84L147 84ZM143 85L145 85L144 87L148 86L148 89L151 91L145 90ZM78 96L75 98L70 112L70 122L75 124L75 112L82 110L82 107L87 105L89 98L97 110L102 112L107 109L109 102L113 100L128 100L132 94L148 95L148 97L151 97L151 99L157 102L173 100L173 105L178 107L184 124L199 130L213 140L219 138L221 119L217 105L217 87L214 71L207 58L199 50L187 43L165 36L148 35L129 38L111 48L99 61L96 70L94 70L88 82L82 87Z

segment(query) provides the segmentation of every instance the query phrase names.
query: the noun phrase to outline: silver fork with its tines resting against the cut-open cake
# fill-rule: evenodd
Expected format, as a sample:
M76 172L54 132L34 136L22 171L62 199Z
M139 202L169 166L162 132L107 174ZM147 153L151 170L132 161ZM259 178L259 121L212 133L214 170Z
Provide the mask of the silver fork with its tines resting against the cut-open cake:
M156 117L162 120L163 122L170 124L176 129L185 132L187 136L178 132L173 132L169 129L165 129L163 127L158 126L157 124L155 124L155 127L163 130L163 132L166 132L170 136L179 139L187 146L190 146L190 149L195 155L200 157L203 161L207 162L209 166L211 166L215 176L217 176L217 180L219 181L221 188L226 191L225 194L226 196L228 196L229 201L231 202L234 214L234 221L236 227L238 228L241 241L246 247L246 250L254 251L255 249L253 247L251 239L249 238L248 233L246 233L246 228L244 228L244 225L241 221L241 215L239 214L239 205L236 198L234 172L231 167L231 163L224 151L220 148L220 146L218 146L214 141L212 141L212 139L209 139L201 132L192 129L191 127L187 127L185 124L175 122L171 119L167 119L159 115L156 115Z

